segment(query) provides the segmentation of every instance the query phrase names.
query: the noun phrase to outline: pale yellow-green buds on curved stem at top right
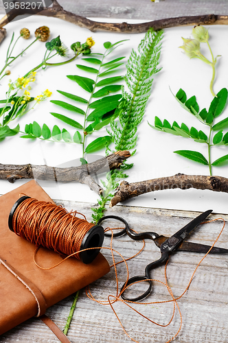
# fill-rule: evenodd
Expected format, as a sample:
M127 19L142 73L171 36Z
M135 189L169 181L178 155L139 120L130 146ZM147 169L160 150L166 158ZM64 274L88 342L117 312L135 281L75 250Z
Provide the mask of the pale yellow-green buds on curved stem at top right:
M209 64L212 67L212 80L210 82L209 88L214 97L216 97L216 94L214 93L213 90L213 85L214 85L214 78L216 75L216 62L218 56L214 58L214 54L212 52L212 48L209 45L209 33L208 30L201 26L201 25L196 25L192 29L192 36L194 36L194 39L192 38L182 38L183 39L183 45L181 48L185 52L185 54L190 57L190 58L199 58L206 64ZM212 56L212 61L208 60L203 54L201 53L201 43L206 43L207 47L209 49L209 53Z

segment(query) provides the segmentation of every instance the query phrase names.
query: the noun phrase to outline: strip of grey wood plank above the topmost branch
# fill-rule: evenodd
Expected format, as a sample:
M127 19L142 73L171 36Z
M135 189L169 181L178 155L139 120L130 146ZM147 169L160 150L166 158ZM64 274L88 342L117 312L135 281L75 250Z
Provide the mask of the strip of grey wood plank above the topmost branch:
M227 0L59 0L65 10L85 17L155 20L199 14L227 14ZM3 1L0 13L3 13Z

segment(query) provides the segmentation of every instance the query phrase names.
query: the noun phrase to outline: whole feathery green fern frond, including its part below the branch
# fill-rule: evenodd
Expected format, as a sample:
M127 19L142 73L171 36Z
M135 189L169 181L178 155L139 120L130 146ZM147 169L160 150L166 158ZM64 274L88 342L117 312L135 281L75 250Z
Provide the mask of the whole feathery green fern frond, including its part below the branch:
M141 40L137 51L131 51L126 64L127 91L122 91L122 100L117 108L118 117L111 119L109 134L115 144L115 150L132 150L137 143L137 128L144 117L146 104L152 88L152 76L159 70L162 31L149 29ZM116 119L116 120L115 120ZM132 153L132 155L135 152ZM126 170L133 163L124 163L119 170L111 170L106 174L106 182L102 181L104 194L98 199L98 206L93 208L93 222L102 218L106 203L113 197L113 191L118 187L121 178L127 178Z

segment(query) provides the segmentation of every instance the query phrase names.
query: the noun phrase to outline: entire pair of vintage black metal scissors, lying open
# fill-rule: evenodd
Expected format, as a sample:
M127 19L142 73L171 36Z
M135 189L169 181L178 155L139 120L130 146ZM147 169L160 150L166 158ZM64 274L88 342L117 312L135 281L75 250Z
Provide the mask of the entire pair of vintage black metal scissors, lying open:
M149 286L146 292L141 294L140 296L137 296L136 298L127 298L127 296L124 295L124 292L122 292L122 298L124 300L129 301L139 301L144 298L146 298L151 292L152 292L152 279L150 277L150 270L155 269L159 267L160 265L163 265L168 261L169 256L176 251L177 249L182 251L190 251L190 252L204 252L206 253L210 246L206 246L205 244L197 244L192 242L185 241L185 238L190 235L192 230L196 228L199 224L201 224L206 217L212 213L212 210L205 211L204 213L201 213L201 215L198 215L198 217L194 218L190 223L185 225L181 230L177 231L172 235L171 237L164 237L162 235L159 235L158 233L154 232L146 232L146 233L135 233L133 230L130 230L128 223L126 220L124 220L122 217L117 217L116 215L106 215L102 217L101 220L99 220L98 225L101 224L106 219L115 219L119 220L120 222L124 223L125 227L120 230L117 233L113 234L113 237L120 237L124 235L125 233L128 234L128 236L135 240L141 240L141 239L152 239L152 241L155 242L156 246L160 248L161 251L161 257L157 261L149 263L145 268L145 275L139 275L139 276L133 276L124 285L122 286L122 290L127 287L128 285L131 285L137 281L147 281ZM106 236L111 237L111 233L105 233ZM228 250L224 248L217 248L213 247L210 253L214 254L224 254L227 253Z

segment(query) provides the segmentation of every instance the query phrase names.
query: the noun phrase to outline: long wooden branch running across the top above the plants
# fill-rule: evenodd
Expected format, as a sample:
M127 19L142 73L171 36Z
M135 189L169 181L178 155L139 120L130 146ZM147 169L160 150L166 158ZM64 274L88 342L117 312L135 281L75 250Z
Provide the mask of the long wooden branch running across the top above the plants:
M156 21L149 21L147 23L128 24L128 23L100 23L98 21L91 21L83 16L66 11L59 3L54 0L52 7L44 8L41 12L36 13L36 10L11 10L0 21L0 27L10 23L16 16L21 14L39 14L41 16L54 16L55 18L69 21L80 27L86 27L92 32L95 31L111 31L111 32L124 32L124 33L140 33L146 32L150 27L155 30L165 29L167 27L183 26L183 25L216 25L228 24L228 16L205 14L200 16L181 16L176 18L159 19Z

